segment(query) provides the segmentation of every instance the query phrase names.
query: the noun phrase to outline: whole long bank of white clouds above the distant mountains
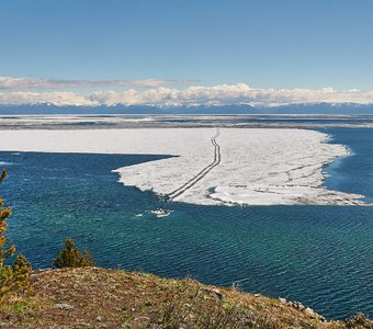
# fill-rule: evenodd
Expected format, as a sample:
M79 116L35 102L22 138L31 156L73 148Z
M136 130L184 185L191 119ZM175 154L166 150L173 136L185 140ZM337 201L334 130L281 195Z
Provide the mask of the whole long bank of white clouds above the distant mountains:
M16 83L19 80L19 84ZM152 105L199 106L235 105L279 106L293 103L373 103L373 90L335 90L323 89L257 89L246 83L218 84L213 87L192 86L188 88L163 87L167 83L181 83L184 80L41 80L29 78L0 78L0 104L21 105L49 103L54 105L101 106L101 105ZM52 82L48 82L52 81ZM58 82L57 82L58 81ZM110 84L112 83L112 84ZM127 83L127 84L125 84ZM138 83L138 84L136 84ZM42 88L41 84L44 87ZM64 88L79 87L127 87L122 91L99 90L93 92L66 91ZM128 86L131 86L128 88ZM24 90L29 88L29 90ZM144 89L145 88L145 89ZM55 89L35 91L35 89ZM2 90L2 91L1 91ZM22 90L22 91L20 91Z

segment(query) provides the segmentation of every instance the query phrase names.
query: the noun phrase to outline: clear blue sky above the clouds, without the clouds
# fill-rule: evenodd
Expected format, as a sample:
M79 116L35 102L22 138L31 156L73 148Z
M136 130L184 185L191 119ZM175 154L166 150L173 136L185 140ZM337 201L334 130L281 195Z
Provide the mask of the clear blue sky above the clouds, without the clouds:
M371 89L369 0L0 0L0 75Z

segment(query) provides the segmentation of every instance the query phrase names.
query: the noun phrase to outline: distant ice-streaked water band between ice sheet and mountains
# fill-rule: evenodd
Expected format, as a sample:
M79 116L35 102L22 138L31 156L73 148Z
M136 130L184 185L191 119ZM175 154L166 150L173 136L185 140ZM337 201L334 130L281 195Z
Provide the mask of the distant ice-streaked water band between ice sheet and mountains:
M34 114L1 115L0 131L134 128L373 128L373 115L324 114Z

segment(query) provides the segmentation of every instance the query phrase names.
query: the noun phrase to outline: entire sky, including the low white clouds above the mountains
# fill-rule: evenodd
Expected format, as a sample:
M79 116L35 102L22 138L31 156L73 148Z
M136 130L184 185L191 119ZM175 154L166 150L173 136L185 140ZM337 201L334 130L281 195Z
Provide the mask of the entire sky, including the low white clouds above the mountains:
M370 0L0 0L0 104L373 103L372 12Z

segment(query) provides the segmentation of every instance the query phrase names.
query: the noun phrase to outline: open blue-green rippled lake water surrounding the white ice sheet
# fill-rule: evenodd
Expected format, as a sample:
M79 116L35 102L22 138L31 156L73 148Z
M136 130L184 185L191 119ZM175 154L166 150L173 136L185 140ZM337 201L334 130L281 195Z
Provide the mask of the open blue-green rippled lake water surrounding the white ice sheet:
M323 132L353 152L326 169L325 184L373 201L373 129ZM111 172L159 158L0 152L11 163L0 195L13 207L12 241L34 268L49 268L70 236L102 266L240 281L245 291L301 300L328 317L373 316L373 207L165 205ZM159 206L174 213L146 213Z

